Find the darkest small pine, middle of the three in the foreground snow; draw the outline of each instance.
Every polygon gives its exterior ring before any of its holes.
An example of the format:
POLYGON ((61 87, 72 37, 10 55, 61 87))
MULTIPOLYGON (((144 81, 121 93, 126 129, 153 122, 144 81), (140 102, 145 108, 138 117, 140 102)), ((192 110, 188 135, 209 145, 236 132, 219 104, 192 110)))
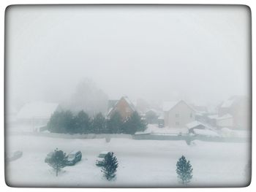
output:
POLYGON ((118 161, 116 156, 114 156, 114 153, 110 152, 105 155, 101 172, 103 172, 104 177, 106 177, 107 180, 112 180, 114 177, 116 177, 117 167, 118 161))

